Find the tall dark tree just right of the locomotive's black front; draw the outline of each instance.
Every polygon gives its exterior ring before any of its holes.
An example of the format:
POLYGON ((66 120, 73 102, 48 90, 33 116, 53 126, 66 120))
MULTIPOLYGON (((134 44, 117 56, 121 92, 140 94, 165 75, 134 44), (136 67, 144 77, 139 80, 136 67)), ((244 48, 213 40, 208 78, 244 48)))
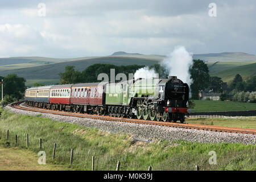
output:
POLYGON ((192 99, 199 99, 199 91, 209 86, 209 69, 202 60, 193 60, 193 66, 189 69, 193 84, 191 84, 192 99))

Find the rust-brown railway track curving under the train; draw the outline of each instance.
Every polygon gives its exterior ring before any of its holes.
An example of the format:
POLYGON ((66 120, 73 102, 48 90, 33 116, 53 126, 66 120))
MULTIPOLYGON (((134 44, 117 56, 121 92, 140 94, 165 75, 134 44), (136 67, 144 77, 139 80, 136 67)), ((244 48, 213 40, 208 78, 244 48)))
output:
POLYGON ((37 107, 31 106, 20 106, 23 101, 16 102, 11 104, 11 107, 16 109, 28 110, 28 111, 37 111, 40 113, 51 113, 66 115, 72 117, 81 117, 81 118, 91 118, 91 119, 101 119, 105 121, 118 121, 118 122, 132 122, 146 125, 158 125, 158 126, 168 126, 168 127, 177 127, 182 129, 197 129, 197 130, 206 130, 206 131, 217 131, 217 132, 226 132, 226 133, 242 133, 242 134, 256 134, 255 129, 244 129, 237 127, 224 127, 224 126, 213 126, 213 125, 198 125, 198 124, 188 124, 188 123, 172 123, 172 122, 162 122, 162 121, 148 121, 142 119, 130 119, 130 118, 116 118, 110 116, 96 115, 96 114, 80 114, 80 113, 69 113, 65 111, 56 111, 56 110, 47 110, 39 109, 37 107))

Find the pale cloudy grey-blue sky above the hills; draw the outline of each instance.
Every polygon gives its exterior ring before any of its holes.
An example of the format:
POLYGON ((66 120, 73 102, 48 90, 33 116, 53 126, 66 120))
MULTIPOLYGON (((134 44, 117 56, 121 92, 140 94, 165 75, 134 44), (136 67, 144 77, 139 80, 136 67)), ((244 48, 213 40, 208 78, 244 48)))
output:
POLYGON ((193 54, 256 55, 255 6, 254 0, 1 0, 0 57, 168 55, 176 46, 193 54))

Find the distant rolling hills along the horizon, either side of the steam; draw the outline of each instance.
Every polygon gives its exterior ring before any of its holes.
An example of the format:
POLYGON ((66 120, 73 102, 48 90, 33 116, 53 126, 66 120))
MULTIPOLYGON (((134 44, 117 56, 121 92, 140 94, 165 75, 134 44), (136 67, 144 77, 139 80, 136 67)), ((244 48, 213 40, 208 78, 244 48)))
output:
MULTIPOLYGON (((55 84, 59 80, 59 72, 64 72, 66 65, 74 65, 83 71, 95 63, 115 65, 139 64, 150 66, 159 63, 166 56, 142 55, 139 53, 117 52, 111 56, 91 56, 76 58, 51 57, 9 57, 0 58, 0 76, 15 73, 28 80, 27 86, 43 80, 45 84, 55 84)), ((243 79, 255 75, 256 56, 242 52, 222 52, 195 54, 193 59, 205 60, 209 67, 210 76, 221 77, 224 82, 230 81, 240 73, 243 79), (218 63, 216 63, 218 62, 218 63), (214 64, 215 63, 215 64, 214 64), (255 64, 253 64, 255 63, 255 64), (247 67, 246 67, 247 66, 247 67)))

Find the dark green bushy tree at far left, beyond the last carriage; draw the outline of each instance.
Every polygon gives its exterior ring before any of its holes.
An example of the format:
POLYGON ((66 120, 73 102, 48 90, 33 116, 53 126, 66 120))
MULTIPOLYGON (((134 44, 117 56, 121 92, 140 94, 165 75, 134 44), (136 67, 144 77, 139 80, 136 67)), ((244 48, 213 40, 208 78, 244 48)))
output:
POLYGON ((26 80, 23 77, 18 77, 16 74, 9 74, 3 78, 3 95, 10 95, 16 98, 21 98, 26 86, 26 80))

